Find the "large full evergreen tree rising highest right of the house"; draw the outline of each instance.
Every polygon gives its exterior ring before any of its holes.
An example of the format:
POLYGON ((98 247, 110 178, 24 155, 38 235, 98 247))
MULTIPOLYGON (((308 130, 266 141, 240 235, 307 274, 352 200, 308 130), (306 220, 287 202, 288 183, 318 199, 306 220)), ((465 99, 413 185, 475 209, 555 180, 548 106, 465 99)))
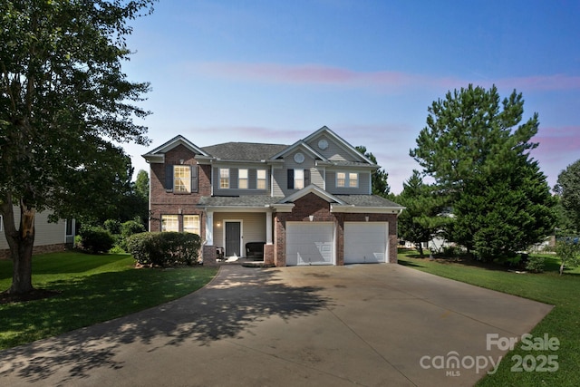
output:
POLYGON ((428 109, 410 154, 449 197, 451 240, 479 257, 507 256, 551 233, 555 199, 529 151, 537 113, 525 122, 521 93, 495 86, 448 92, 428 109))

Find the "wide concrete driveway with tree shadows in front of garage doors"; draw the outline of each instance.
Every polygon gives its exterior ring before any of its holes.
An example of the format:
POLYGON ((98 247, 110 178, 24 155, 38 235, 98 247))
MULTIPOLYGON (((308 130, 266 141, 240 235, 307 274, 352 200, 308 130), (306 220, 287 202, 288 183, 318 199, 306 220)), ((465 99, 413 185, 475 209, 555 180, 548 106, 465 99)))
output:
POLYGON ((472 385, 506 353, 488 334, 551 308, 399 265, 222 266, 172 303, 0 352, 0 384, 472 385))

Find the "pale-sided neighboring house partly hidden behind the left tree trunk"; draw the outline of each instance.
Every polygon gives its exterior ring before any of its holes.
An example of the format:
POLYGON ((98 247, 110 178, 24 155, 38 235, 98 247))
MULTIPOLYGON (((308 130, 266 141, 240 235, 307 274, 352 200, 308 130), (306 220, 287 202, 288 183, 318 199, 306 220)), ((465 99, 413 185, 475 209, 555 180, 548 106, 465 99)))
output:
MULTIPOLYGON (((33 254, 62 251, 74 243, 74 219, 59 220, 49 223, 50 211, 37 212, 34 216, 34 250, 33 254)), ((14 207, 16 227, 20 222, 20 208, 14 207)), ((10 257, 10 247, 5 237, 4 219, 0 215, 0 259, 10 257)))

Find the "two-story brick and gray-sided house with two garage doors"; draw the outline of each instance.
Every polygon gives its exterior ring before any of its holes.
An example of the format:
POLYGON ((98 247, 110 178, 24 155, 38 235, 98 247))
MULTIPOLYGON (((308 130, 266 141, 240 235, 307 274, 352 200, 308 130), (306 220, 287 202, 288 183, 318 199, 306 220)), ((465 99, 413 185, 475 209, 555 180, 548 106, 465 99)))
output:
POLYGON ((293 145, 177 136, 143 157, 150 231, 197 233, 204 262, 252 242, 267 265, 397 262, 402 207, 372 195, 379 167, 327 127, 293 145))

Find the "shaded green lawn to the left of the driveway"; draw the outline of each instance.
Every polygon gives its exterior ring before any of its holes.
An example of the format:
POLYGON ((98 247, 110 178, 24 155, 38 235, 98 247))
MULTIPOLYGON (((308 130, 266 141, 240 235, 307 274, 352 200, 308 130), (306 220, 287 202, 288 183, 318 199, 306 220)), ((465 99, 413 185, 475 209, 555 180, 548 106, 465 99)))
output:
MULTIPOLYGON (((216 267, 136 269, 129 255, 79 252, 33 257, 33 284, 49 298, 0 305, 0 349, 63 334, 188 295, 216 276, 216 267)), ((12 261, 0 260, 0 291, 12 283, 12 261)))

